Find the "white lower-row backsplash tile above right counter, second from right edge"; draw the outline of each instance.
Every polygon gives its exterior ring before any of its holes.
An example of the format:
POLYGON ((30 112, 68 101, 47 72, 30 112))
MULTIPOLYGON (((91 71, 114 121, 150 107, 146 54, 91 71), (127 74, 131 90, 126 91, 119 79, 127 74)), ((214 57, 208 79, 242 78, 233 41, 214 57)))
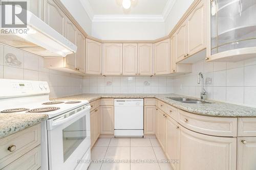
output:
POLYGON ((244 87, 227 87, 226 102, 234 104, 244 103, 244 87))

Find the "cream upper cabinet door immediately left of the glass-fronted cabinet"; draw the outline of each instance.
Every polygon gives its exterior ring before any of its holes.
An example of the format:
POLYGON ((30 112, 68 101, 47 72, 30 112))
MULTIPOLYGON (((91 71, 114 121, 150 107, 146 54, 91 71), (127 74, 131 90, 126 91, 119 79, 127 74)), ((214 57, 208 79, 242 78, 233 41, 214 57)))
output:
POLYGON ((201 1, 187 18, 188 55, 206 48, 205 1, 201 1))

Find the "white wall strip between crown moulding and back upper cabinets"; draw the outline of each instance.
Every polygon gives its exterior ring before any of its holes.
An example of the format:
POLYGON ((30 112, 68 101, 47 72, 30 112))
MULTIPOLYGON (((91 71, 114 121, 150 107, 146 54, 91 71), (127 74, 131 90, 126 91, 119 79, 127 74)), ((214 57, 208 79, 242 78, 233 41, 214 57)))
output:
POLYGON ((165 36, 164 22, 93 22, 92 36, 103 40, 155 40, 165 36))

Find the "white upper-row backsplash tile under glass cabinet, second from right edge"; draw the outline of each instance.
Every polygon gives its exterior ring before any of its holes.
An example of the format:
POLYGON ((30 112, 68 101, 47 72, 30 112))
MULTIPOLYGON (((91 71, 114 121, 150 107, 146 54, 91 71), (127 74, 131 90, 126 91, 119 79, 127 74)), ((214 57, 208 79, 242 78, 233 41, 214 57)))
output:
POLYGON ((244 85, 244 68, 234 68, 227 70, 227 86, 244 85))

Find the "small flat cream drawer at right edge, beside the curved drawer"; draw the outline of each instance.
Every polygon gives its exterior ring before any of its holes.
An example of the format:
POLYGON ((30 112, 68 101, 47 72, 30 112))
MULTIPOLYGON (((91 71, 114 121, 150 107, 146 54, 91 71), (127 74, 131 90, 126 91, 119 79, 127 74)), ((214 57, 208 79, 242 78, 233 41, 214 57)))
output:
POLYGON ((238 118, 238 136, 256 136, 256 117, 238 118))

